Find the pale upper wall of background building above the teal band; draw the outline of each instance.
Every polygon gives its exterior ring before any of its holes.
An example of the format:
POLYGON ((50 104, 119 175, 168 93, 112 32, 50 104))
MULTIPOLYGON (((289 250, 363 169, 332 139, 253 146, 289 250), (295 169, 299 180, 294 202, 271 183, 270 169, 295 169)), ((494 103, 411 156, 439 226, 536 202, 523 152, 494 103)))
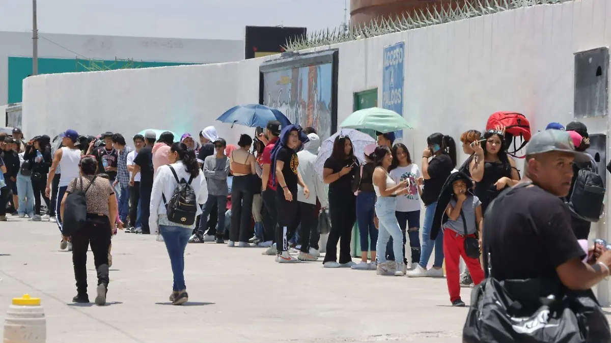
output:
MULTIPOLYGON (((74 59, 76 54, 79 54, 79 59, 114 60, 116 57, 146 62, 183 63, 219 63, 244 59, 243 40, 117 37, 45 32, 40 32, 39 35, 38 57, 74 59)), ((8 57, 32 57, 32 34, 0 32, 0 47, 0 104, 6 104, 8 57)))

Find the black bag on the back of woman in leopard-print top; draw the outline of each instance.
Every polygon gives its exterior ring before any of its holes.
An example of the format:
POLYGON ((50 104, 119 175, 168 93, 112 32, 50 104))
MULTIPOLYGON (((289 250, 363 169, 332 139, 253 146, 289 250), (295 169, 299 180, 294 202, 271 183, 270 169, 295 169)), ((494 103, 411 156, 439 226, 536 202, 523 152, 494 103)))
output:
MULTIPOLYGON (((79 190, 75 184, 75 190, 66 196, 64 204, 64 215, 62 216, 62 234, 70 237, 85 226, 87 221, 87 198, 85 193, 89 187, 95 182, 97 176, 89 183, 86 189, 82 188, 82 176, 79 178, 81 189, 79 190)), ((75 182, 76 183, 76 182, 75 182)), ((57 201, 61 201, 57 199, 57 201)))

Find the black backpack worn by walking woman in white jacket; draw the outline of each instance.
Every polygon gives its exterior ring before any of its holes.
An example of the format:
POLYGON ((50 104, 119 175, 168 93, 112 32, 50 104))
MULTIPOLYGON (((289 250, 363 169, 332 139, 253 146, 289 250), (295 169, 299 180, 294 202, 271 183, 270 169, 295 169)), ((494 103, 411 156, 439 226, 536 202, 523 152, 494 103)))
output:
POLYGON ((168 165, 174 179, 176 179, 176 187, 170 201, 166 201, 166 196, 162 194, 163 203, 166 205, 167 219, 172 223, 178 223, 181 225, 193 225, 197 217, 197 196, 193 187, 191 187, 191 181, 193 176, 189 178, 189 182, 185 179, 178 180, 178 175, 171 165, 168 165))

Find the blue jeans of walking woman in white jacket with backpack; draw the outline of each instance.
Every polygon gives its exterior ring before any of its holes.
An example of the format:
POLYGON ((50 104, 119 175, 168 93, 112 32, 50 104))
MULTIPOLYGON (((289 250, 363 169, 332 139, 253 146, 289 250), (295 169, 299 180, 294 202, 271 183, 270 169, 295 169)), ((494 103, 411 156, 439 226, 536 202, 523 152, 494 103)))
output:
POLYGON ((180 226, 159 225, 159 233, 166 244, 167 255, 170 256, 174 284, 172 291, 183 291, 185 286, 185 248, 191 237, 192 229, 180 226))

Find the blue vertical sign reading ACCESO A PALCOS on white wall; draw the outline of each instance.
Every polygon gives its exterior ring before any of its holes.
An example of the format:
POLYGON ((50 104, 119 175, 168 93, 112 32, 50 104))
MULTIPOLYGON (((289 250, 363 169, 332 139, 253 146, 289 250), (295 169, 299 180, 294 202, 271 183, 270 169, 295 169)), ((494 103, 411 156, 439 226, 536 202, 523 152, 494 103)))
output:
MULTIPOLYGON (((384 78, 382 78, 382 108, 403 115, 405 43, 384 48, 384 78)), ((397 139, 403 138, 403 130, 395 132, 397 139)))

